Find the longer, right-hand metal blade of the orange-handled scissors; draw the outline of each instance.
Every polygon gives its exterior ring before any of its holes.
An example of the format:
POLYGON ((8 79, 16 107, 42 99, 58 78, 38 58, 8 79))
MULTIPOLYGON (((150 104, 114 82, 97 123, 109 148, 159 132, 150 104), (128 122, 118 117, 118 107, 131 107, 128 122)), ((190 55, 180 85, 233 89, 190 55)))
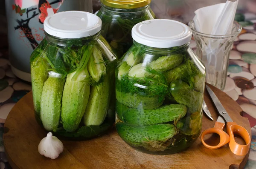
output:
POLYGON ((216 107, 217 110, 218 110, 219 115, 220 115, 221 117, 223 117, 226 122, 231 122, 231 121, 233 121, 233 120, 230 118, 230 116, 227 114, 226 109, 222 106, 220 100, 218 100, 218 97, 214 94, 214 92, 212 91, 212 89, 210 89, 209 86, 207 86, 207 85, 205 85, 205 86, 206 86, 206 89, 207 89, 207 91, 208 91, 210 97, 212 98, 212 101, 213 101, 215 107, 216 107))

